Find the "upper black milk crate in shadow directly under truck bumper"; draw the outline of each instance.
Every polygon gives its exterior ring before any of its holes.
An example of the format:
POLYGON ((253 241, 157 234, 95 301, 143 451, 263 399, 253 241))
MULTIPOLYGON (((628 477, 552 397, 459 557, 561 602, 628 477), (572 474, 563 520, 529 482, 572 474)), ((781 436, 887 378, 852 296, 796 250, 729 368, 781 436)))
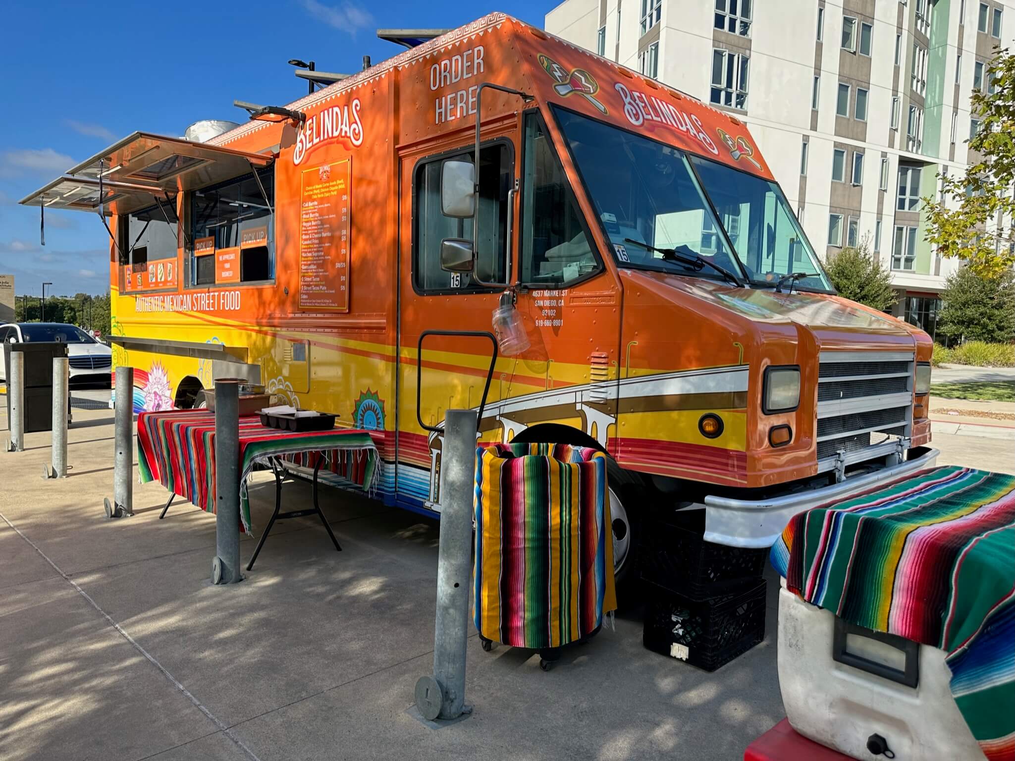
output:
POLYGON ((704 510, 650 514, 642 532, 641 577, 703 599, 761 578, 768 550, 705 542, 704 510))

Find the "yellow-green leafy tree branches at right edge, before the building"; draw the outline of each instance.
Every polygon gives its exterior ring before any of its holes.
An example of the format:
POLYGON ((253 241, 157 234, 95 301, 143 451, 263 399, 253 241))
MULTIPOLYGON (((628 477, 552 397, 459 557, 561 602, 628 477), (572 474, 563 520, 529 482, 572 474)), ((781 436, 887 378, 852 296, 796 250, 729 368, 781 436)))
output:
POLYGON ((941 198, 923 199, 927 239, 941 256, 962 259, 987 277, 1015 263, 1015 55, 994 50, 986 73, 990 86, 974 89, 969 98, 979 121, 968 140, 976 160, 964 175, 939 175, 941 198))

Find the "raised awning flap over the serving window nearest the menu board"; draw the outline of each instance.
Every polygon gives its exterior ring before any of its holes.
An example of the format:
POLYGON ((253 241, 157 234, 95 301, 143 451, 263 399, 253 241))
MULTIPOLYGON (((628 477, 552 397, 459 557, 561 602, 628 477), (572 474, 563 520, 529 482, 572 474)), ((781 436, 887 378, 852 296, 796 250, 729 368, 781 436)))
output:
POLYGON ((96 153, 68 175, 103 182, 150 185, 179 192, 206 188, 260 168, 273 156, 147 132, 135 132, 96 153))

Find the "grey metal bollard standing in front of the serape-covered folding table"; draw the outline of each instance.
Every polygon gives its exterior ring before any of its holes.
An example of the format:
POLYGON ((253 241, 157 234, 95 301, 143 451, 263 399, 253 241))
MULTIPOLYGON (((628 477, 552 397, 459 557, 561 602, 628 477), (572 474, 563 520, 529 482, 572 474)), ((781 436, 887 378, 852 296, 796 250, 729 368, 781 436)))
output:
POLYGON ((242 581, 240 570, 240 384, 215 382, 215 557, 211 582, 242 581))

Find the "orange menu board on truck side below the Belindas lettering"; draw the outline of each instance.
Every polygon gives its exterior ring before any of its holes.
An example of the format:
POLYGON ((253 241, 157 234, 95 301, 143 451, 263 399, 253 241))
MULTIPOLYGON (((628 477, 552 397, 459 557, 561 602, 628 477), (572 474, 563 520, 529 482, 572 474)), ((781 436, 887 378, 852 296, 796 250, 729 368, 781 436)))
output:
POLYGON ((299 308, 349 310, 352 162, 303 169, 299 183, 299 308))

